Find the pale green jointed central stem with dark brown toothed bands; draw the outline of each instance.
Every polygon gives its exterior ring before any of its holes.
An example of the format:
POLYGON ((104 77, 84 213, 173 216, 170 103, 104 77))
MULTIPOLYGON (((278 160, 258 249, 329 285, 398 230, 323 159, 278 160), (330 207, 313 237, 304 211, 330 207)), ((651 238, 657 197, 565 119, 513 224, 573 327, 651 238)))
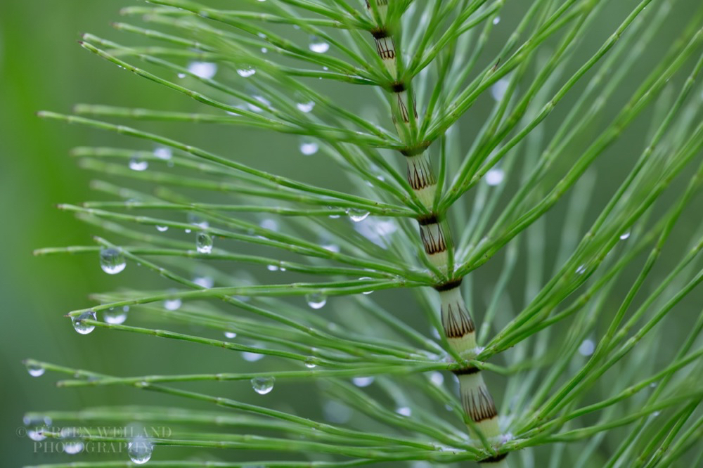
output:
MULTIPOLYGON (((388 0, 366 1, 369 15, 379 24, 371 30, 376 43, 376 51, 383 65, 394 81, 389 92, 392 100, 393 122, 401 138, 412 134, 412 127, 418 120, 415 99, 408 93, 408 83, 398 75, 396 48, 391 33, 385 26, 388 0), (380 21, 380 22, 379 22, 380 21)), ((418 216, 420 239, 430 262, 451 277, 449 271, 449 242, 445 232, 446 223, 435 212, 437 178, 432 171, 427 145, 408 147, 401 150, 408 164, 408 183, 415 195, 427 209, 427 214, 418 216)), ((476 327, 466 307, 460 290, 461 279, 450 280, 435 286, 441 303, 441 323, 451 349, 466 358, 479 353, 476 342, 476 327)), ((482 460, 482 466, 508 468, 507 454, 496 454, 494 446, 501 443, 501 430, 498 426, 498 411, 488 391, 479 368, 470 367, 455 371, 459 379, 459 392, 464 411, 470 417, 469 432, 473 439, 480 441, 493 455, 482 460)))

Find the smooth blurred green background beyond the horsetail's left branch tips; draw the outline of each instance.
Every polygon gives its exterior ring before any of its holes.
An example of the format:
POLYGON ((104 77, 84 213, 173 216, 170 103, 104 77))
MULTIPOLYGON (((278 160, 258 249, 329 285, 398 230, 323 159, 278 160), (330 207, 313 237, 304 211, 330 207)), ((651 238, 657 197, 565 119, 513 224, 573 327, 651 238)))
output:
MULTIPOLYGON (((32 256, 32 249, 38 247, 91 243, 90 236, 95 230, 55 208, 58 202, 79 203, 95 197, 89 190, 91 174, 80 170, 68 151, 77 145, 110 145, 124 141, 82 127, 43 122, 34 112, 42 109, 69 112, 75 103, 127 103, 169 109, 193 106, 183 96, 117 70, 76 43, 84 31, 115 37, 118 33, 112 31, 110 22, 120 19, 120 7, 136 3, 128 0, 0 1, 0 213, 4 220, 4 249, 0 256, 0 427, 3 434, 0 464, 4 467, 75 460, 63 453, 34 453, 31 441, 16 434, 22 425, 22 414, 27 410, 77 409, 108 403, 171 403, 164 397, 133 389, 56 389, 54 376, 34 379, 27 375, 21 363, 23 358, 50 360, 88 370, 105 369, 117 375, 141 375, 153 373, 155 369, 165 373, 183 369, 217 372, 227 362, 225 359, 242 362, 236 356, 223 357, 218 350, 151 337, 101 330, 79 336, 63 317, 64 313, 91 304, 87 299, 90 292, 134 285, 141 278, 138 275, 143 278, 148 275, 136 268, 130 268, 129 275, 105 275, 94 256, 32 256)), ((509 25, 515 20, 511 18, 510 8, 519 3, 508 1, 501 24, 509 25)), ((626 11, 633 2, 622 3, 626 11)), ((697 0, 691 0, 688 11, 681 8, 667 22, 671 34, 696 3, 697 0)), ((598 25, 602 31, 593 34, 586 45, 592 48, 598 44, 596 41, 610 34, 612 26, 598 25)), ((498 38, 507 37, 508 27, 496 34, 498 38)), ((662 50, 667 46, 668 34, 658 43, 662 50)), ((662 50, 652 51, 652 60, 656 60, 662 50)), ((643 70, 650 68, 646 63, 639 65, 643 70)), ((352 98, 354 95, 350 93, 349 99, 352 98)), ((554 121, 558 119, 555 117, 554 121)), ((240 153, 257 161, 259 167, 280 164, 276 148, 290 148, 295 144, 295 140, 287 136, 269 136, 266 145, 257 145, 256 138, 260 135, 246 135, 242 131, 235 136, 231 130, 178 128, 182 141, 209 139, 216 148, 231 148, 235 142, 240 153)), ((636 124, 633 131, 626 133, 626 138, 640 138, 646 128, 646 121, 636 124)), ((617 144, 617 148, 627 146, 628 141, 617 144)), ((639 147, 639 143, 636 146, 639 147)), ((299 160, 290 160, 283 166, 287 175, 294 177, 320 175, 311 174, 309 167, 299 164, 299 160)), ((623 167, 627 167, 626 164, 623 167)), ((326 168, 323 165, 320 171, 326 168)), ((612 183, 619 177, 621 173, 616 167, 610 174, 612 183)), ((602 187, 609 186, 607 178, 599 179, 599 183, 602 187)), ((607 191, 602 190, 602 193, 607 191)), ((494 266, 487 266, 486 271, 491 268, 494 266)), ((220 385, 233 392, 241 390, 235 384, 220 385)), ((251 394, 247 389, 242 398, 253 399, 251 394)))

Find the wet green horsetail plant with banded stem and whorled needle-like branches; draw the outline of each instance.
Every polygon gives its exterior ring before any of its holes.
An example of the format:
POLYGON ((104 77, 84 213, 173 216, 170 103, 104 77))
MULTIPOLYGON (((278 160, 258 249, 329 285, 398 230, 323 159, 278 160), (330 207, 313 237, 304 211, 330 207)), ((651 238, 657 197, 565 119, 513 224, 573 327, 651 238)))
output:
POLYGON ((150 0, 122 13, 115 28, 144 45, 81 46, 190 108, 39 112, 141 146, 73 151, 131 183, 94 181, 110 200, 60 205, 101 230, 95 245, 36 254, 171 283, 95 294, 67 314, 81 334, 270 358, 264 372, 135 377, 27 360, 32 375, 67 375, 60 386, 170 397, 27 413, 35 440, 124 443, 131 458, 48 466, 127 467, 155 446, 150 464, 169 467, 699 466, 703 6, 150 0), (226 148, 189 142, 214 124, 226 148), (306 164, 309 180, 249 164, 239 127, 264 146, 301 138, 277 164, 306 164), (245 380, 268 394, 296 379, 320 414, 188 388, 245 380), (107 423, 173 431, 89 429, 107 423))

